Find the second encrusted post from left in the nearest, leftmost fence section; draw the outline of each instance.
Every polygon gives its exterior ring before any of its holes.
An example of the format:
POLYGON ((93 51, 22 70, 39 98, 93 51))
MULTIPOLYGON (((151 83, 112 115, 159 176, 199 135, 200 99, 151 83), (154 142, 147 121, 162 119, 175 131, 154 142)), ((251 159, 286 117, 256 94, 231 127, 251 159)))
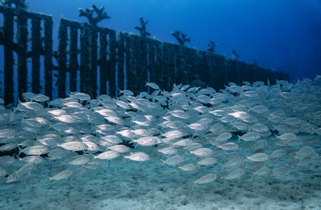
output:
POLYGON ((21 99, 22 92, 27 92, 27 43, 28 43, 28 23, 27 17, 21 14, 17 17, 17 79, 18 98, 21 99))

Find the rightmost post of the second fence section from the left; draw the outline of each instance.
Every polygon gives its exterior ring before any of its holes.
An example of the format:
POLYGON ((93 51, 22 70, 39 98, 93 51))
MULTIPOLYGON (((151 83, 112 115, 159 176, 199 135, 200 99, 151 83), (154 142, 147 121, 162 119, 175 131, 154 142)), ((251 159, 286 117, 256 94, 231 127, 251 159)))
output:
POLYGON ((116 94, 116 48, 117 48, 117 39, 116 31, 109 30, 109 39, 108 39, 108 79, 109 79, 109 96, 113 97, 116 94))

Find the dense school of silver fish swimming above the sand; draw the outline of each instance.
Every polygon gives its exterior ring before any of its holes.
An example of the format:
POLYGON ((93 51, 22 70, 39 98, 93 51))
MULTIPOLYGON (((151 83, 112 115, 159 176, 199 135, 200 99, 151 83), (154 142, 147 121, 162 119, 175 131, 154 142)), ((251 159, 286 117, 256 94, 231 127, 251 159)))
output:
POLYGON ((48 182, 83 175, 106 161, 158 161, 185 171, 215 164, 220 174, 200 174, 193 181, 206 184, 218 177, 283 175, 320 165, 314 145, 321 135, 321 76, 243 84, 229 83, 218 92, 174 84, 167 92, 146 82, 157 90, 135 97, 119 90, 117 99, 71 92, 48 101, 23 93, 26 102, 0 107, 0 156, 19 150, 0 157, 0 176, 6 183, 24 179, 30 186, 36 181, 33 170, 52 161, 60 166, 48 182), (266 154, 268 147, 273 152, 266 154), (275 168, 276 162, 284 164, 275 168))

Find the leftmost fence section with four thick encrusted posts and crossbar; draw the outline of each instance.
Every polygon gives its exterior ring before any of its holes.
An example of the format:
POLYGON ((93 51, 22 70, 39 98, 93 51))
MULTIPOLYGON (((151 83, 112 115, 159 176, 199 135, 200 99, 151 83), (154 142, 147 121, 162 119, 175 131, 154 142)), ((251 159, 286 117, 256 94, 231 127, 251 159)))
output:
MULTIPOLYGON (((15 64, 13 52, 17 53, 18 97, 27 92, 27 58, 32 59, 32 92, 40 92, 40 56, 44 57, 45 69, 45 95, 52 96, 52 15, 28 12, 12 7, 0 6, 3 14, 3 35, 0 39, 4 46, 4 101, 13 102, 13 65, 15 64), (14 36, 14 17, 17 22, 16 42, 14 36), (31 19, 31 51, 27 50, 28 25, 31 19), (41 21, 44 22, 44 37, 41 37, 41 21), (43 42, 43 46, 42 46, 43 42)), ((0 35, 1 37, 1 35, 0 35)))

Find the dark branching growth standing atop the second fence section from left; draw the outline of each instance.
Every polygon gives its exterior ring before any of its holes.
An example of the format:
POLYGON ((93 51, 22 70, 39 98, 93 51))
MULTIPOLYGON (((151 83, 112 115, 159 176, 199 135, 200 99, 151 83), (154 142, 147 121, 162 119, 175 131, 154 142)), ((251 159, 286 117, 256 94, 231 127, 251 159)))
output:
POLYGON ((79 8, 78 9, 78 11, 79 11, 78 15, 87 17, 90 24, 97 25, 98 22, 100 22, 100 21, 102 21, 104 19, 109 19, 110 18, 110 16, 108 16, 107 13, 104 12, 104 9, 105 9, 105 7, 103 7, 103 6, 98 8, 97 6, 95 6, 95 4, 92 4, 91 8, 87 8, 85 10, 82 9, 82 8, 79 8), (92 16, 94 11, 97 13, 96 17, 92 16))

